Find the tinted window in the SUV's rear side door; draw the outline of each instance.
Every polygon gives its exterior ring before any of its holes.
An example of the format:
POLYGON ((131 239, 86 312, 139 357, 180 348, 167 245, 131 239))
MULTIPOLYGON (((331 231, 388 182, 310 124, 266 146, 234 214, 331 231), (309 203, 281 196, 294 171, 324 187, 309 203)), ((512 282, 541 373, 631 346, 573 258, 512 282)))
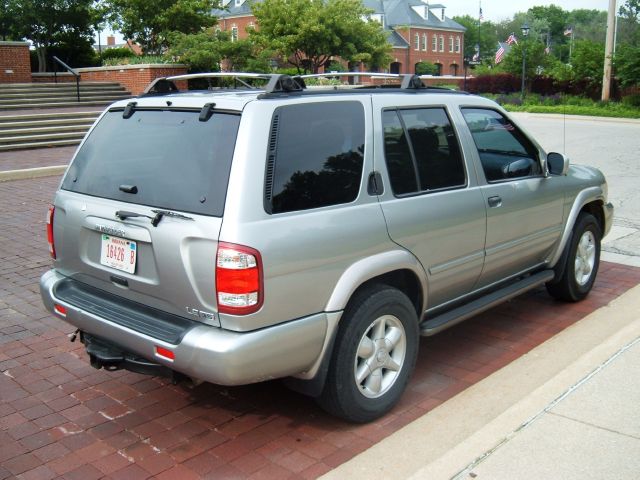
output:
POLYGON ((386 110, 382 121, 395 195, 466 184, 458 140, 444 108, 386 110))

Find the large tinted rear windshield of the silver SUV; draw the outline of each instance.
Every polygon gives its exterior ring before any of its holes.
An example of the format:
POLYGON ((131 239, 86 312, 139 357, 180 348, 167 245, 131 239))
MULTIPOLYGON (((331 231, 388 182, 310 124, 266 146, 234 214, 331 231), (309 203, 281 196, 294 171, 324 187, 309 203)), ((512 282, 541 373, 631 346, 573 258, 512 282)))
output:
POLYGON ((240 115, 215 112, 201 122, 199 111, 136 110, 127 119, 122 113, 100 120, 62 188, 222 216, 240 115))

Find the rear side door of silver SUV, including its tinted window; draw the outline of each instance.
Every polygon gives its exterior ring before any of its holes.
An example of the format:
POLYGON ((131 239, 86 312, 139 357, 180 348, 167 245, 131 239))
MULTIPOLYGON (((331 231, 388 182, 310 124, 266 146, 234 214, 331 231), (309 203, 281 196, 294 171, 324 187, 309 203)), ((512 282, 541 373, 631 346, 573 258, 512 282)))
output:
POLYGON ((381 102, 377 111, 382 135, 376 139, 376 161, 384 158, 384 165, 377 163, 376 169, 386 169, 391 183, 385 185, 382 210, 391 239, 410 250, 427 272, 432 308, 468 293, 480 275, 486 227, 482 193, 445 106, 381 102))

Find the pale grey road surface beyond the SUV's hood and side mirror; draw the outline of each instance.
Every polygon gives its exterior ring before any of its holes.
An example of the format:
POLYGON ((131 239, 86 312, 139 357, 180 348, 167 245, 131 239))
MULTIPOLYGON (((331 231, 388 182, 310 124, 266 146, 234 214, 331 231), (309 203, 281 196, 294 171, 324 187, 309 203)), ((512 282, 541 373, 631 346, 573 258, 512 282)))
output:
POLYGON ((512 115, 547 152, 564 153, 572 163, 602 170, 615 206, 603 257, 640 266, 640 120, 512 115))

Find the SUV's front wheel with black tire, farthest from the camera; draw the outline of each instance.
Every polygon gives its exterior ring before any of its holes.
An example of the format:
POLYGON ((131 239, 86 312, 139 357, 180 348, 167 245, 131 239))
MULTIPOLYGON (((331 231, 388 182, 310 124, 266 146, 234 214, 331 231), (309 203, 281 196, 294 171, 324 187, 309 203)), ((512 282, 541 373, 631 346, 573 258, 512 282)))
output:
POLYGON ((547 283, 549 294, 566 302, 585 298, 596 280, 600 264, 600 240, 602 233, 595 217, 581 213, 573 227, 568 254, 559 278, 547 283))

